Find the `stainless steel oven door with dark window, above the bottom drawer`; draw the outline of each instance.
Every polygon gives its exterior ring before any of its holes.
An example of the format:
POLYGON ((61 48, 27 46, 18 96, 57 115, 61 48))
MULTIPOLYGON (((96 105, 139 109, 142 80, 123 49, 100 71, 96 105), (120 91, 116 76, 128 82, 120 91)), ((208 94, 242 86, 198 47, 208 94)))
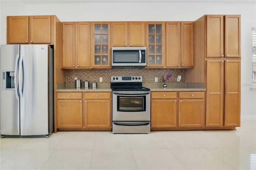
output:
POLYGON ((113 91, 113 121, 150 121, 150 91, 113 91))

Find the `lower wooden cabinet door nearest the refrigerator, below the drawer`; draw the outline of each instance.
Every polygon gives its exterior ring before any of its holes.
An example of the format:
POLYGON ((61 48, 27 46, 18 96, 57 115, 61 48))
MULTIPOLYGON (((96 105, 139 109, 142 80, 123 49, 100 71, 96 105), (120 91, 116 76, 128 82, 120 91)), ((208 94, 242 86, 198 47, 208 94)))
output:
POLYGON ((82 100, 57 100, 57 127, 79 128, 83 126, 82 100))

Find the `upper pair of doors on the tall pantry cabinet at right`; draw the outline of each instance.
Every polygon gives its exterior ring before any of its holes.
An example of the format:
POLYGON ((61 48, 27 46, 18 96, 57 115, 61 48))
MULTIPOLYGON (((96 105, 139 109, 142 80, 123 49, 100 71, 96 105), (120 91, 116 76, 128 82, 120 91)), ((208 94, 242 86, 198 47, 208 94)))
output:
POLYGON ((240 15, 206 16, 206 57, 240 57, 240 15))

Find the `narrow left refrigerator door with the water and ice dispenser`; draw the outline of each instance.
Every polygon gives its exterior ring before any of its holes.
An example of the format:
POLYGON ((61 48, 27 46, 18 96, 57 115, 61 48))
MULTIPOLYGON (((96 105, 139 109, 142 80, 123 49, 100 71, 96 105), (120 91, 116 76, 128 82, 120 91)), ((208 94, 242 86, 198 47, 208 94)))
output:
POLYGON ((18 59, 20 45, 1 45, 0 129, 1 135, 20 135, 18 59), (10 75, 12 73, 12 75, 10 75), (12 81, 12 82, 11 82, 12 81), (14 84, 14 86, 13 86, 14 84))

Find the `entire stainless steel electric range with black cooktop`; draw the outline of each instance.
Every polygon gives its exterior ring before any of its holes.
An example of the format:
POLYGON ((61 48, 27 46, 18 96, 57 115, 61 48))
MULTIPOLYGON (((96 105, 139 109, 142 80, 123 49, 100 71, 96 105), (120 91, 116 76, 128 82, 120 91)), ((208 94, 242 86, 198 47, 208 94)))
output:
POLYGON ((112 132, 150 133, 150 89, 142 76, 111 76, 112 132))

